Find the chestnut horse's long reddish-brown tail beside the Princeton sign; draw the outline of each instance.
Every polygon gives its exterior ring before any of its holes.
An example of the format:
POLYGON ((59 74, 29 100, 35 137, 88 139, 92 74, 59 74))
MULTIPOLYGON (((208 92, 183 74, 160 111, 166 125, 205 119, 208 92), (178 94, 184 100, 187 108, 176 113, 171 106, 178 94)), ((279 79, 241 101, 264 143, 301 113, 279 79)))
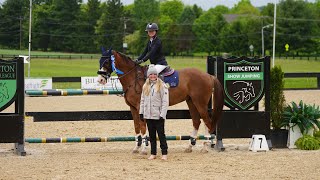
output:
POLYGON ((222 116, 222 110, 224 106, 224 90, 220 83, 220 81, 215 77, 212 76, 213 81, 213 98, 212 98, 212 105, 213 105, 213 111, 212 111, 212 127, 213 129, 210 132, 211 134, 214 134, 216 132, 216 128, 219 125, 219 122, 221 120, 222 116))

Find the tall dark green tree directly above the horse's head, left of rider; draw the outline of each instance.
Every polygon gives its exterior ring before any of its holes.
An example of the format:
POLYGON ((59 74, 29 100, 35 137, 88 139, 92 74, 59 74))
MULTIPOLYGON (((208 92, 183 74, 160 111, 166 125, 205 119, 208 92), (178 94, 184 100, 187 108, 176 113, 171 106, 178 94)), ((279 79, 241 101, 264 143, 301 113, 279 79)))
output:
POLYGON ((96 26, 97 46, 113 47, 122 50, 124 40, 123 5, 120 0, 108 0, 96 26))

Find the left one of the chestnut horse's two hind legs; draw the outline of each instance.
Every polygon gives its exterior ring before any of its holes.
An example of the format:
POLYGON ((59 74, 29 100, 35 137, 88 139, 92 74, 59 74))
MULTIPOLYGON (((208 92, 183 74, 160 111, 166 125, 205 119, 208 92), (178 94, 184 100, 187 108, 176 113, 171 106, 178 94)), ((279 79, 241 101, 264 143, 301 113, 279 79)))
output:
POLYGON ((191 98, 187 99, 187 104, 189 107, 189 111, 190 111, 190 116, 192 118, 192 123, 193 123, 193 131, 190 135, 190 144, 188 145, 188 147, 185 149, 185 152, 192 152, 192 147, 196 144, 196 139, 197 139, 197 135, 198 135, 198 130, 199 130, 199 126, 200 126, 200 115, 198 113, 198 110, 196 108, 196 106, 193 104, 191 98))

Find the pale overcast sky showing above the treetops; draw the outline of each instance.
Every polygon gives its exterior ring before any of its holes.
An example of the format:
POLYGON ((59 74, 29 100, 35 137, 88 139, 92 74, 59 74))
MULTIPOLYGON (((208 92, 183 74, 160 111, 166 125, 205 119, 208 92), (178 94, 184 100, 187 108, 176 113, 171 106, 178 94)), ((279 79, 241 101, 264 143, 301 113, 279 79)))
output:
MULTIPOLYGON (((0 0, 0 3, 5 0, 0 0)), ((101 0, 106 1, 106 0, 101 0)), ((121 0, 124 5, 132 4, 134 0, 121 0)), ((209 8, 215 7, 217 5, 225 5, 229 8, 232 8, 235 4, 237 4, 240 0, 182 0, 182 2, 186 5, 197 4, 204 10, 208 10, 209 8)), ((280 0, 251 0, 251 4, 255 7, 260 7, 267 5, 268 3, 279 2, 280 0)), ((309 2, 315 2, 315 0, 308 0, 309 2)), ((83 2, 87 2, 87 0, 83 0, 83 2)))

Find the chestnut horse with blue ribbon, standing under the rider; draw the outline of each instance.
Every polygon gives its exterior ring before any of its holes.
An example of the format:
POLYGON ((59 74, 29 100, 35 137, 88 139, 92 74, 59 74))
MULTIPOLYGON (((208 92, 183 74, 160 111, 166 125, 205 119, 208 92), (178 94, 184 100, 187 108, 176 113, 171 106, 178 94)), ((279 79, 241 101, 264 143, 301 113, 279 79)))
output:
MULTIPOLYGON (((140 96, 145 82, 144 72, 146 68, 136 65, 129 57, 117 51, 111 49, 106 51, 104 48, 102 51, 98 82, 105 84, 111 73, 116 72, 123 87, 125 102, 130 106, 134 121, 136 146, 133 152, 139 152, 141 145, 143 145, 141 154, 147 154, 146 122, 141 121, 139 117, 140 96)), ((201 72, 195 68, 185 68, 178 72, 179 85, 169 88, 169 105, 175 105, 182 101, 186 101, 188 104, 194 130, 190 135, 190 145, 188 145, 185 151, 191 152, 192 146, 195 145, 201 123, 200 119, 203 119, 206 125, 206 142, 202 150, 208 151, 208 144, 212 140, 212 137, 214 137, 217 125, 221 119, 224 104, 223 88, 215 76, 201 72), (212 113, 209 113, 208 103, 212 95, 213 111, 210 110, 212 113)))

